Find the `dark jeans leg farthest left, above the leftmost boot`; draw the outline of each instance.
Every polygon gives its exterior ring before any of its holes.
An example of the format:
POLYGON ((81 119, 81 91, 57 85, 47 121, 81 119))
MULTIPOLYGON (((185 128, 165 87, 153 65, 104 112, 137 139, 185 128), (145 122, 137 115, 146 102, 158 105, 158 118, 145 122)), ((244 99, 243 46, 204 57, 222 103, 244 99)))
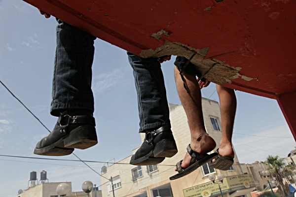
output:
POLYGON ((57 19, 57 48, 54 64, 50 113, 59 116, 65 109, 94 111, 91 90, 96 37, 57 19))

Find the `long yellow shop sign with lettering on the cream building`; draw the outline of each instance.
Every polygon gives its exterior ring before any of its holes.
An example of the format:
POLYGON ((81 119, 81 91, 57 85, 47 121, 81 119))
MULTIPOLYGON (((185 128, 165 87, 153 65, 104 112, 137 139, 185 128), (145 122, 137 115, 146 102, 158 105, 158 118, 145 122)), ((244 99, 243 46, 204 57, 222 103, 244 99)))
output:
POLYGON ((255 182, 251 174, 227 176, 223 179, 223 183, 218 180, 214 184, 212 181, 201 185, 197 185, 191 188, 183 190, 184 197, 212 197, 222 193, 232 192, 236 190, 242 190, 250 187, 255 187, 255 182))

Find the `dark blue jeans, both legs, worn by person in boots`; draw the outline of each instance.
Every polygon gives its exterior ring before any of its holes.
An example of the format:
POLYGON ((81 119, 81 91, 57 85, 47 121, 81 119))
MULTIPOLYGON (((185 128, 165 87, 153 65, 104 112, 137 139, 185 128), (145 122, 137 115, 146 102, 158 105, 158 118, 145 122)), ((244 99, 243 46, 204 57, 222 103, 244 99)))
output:
MULTIPOLYGON (((94 111, 91 90, 96 37, 57 19, 57 48, 50 113, 68 109, 94 111)), ((140 58, 128 52, 138 93, 140 132, 170 126, 163 75, 156 58, 140 58)))

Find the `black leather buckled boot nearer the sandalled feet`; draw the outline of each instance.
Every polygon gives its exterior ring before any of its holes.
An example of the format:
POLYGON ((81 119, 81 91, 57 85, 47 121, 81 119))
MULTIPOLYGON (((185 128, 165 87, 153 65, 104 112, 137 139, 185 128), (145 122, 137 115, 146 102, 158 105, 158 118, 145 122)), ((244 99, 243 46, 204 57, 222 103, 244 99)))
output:
POLYGON ((153 165, 161 163, 166 157, 173 157, 178 152, 177 145, 169 126, 149 130, 143 144, 132 155, 130 164, 153 165))

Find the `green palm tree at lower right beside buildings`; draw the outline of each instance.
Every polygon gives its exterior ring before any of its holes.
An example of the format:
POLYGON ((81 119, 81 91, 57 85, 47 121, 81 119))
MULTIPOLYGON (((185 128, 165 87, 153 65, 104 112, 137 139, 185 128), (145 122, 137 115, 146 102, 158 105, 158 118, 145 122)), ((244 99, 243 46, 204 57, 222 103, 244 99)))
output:
POLYGON ((279 189, 281 191, 281 194, 289 196, 285 190, 285 186, 283 183, 282 169, 285 166, 285 163, 283 161, 284 159, 279 159, 279 156, 273 157, 271 155, 268 155, 264 164, 267 165, 267 169, 270 172, 271 176, 274 177, 277 184, 280 185, 279 189))

